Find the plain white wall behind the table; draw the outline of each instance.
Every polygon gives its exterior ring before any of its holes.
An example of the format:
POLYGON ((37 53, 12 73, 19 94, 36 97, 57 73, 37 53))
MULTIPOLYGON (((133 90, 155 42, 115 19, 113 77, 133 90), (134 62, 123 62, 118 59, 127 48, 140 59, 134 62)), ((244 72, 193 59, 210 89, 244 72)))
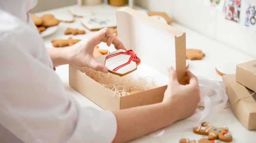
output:
POLYGON ((256 31, 224 19, 224 10, 210 8, 204 5, 204 0, 134 0, 134 3, 150 11, 166 12, 174 22, 256 58, 256 31))

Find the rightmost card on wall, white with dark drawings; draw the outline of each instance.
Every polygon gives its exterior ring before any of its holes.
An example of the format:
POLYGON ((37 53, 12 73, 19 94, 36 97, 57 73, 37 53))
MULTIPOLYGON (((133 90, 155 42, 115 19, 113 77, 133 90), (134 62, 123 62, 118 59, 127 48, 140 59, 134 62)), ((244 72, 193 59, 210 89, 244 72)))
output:
POLYGON ((256 0, 243 0, 241 7, 241 25, 256 31, 256 0))

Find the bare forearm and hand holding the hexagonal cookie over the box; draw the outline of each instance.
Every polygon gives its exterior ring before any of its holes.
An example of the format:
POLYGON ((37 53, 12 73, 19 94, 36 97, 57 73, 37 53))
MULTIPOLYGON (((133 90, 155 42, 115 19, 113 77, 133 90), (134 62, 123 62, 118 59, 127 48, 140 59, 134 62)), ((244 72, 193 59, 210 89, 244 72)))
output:
POLYGON ((112 43, 116 49, 126 50, 122 42, 108 28, 103 28, 69 48, 47 48, 47 51, 51 56, 54 67, 72 64, 77 67, 89 67, 96 71, 107 73, 107 67, 97 63, 93 58, 94 47, 101 42, 107 43, 108 46, 112 43))

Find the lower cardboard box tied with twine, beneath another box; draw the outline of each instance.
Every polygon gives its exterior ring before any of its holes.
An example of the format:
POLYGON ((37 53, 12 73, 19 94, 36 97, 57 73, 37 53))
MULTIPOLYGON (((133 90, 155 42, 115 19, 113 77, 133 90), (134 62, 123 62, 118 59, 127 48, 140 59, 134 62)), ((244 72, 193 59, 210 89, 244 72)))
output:
POLYGON ((235 74, 225 74, 222 79, 226 86, 228 101, 231 105, 244 98, 231 106, 237 119, 246 129, 256 130, 256 94, 250 96, 254 91, 238 83, 235 74))

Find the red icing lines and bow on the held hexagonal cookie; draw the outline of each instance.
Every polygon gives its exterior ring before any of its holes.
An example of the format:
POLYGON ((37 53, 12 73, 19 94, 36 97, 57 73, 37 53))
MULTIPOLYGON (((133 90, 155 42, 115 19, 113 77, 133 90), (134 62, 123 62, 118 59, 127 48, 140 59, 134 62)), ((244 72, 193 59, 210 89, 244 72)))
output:
POLYGON ((112 54, 112 55, 109 55, 109 56, 106 56, 106 59, 110 58, 110 57, 113 57, 113 56, 117 56, 117 55, 120 55, 120 54, 124 54, 124 55, 130 55, 130 58, 128 60, 128 62, 116 67, 115 69, 113 69, 112 71, 117 71, 118 69, 120 69, 121 67, 123 66, 126 66, 128 64, 131 63, 131 61, 134 61, 136 63, 139 63, 140 62, 140 58, 137 57, 137 55, 134 53, 133 50, 127 50, 125 52, 118 52, 118 53, 115 53, 115 54, 112 54))

